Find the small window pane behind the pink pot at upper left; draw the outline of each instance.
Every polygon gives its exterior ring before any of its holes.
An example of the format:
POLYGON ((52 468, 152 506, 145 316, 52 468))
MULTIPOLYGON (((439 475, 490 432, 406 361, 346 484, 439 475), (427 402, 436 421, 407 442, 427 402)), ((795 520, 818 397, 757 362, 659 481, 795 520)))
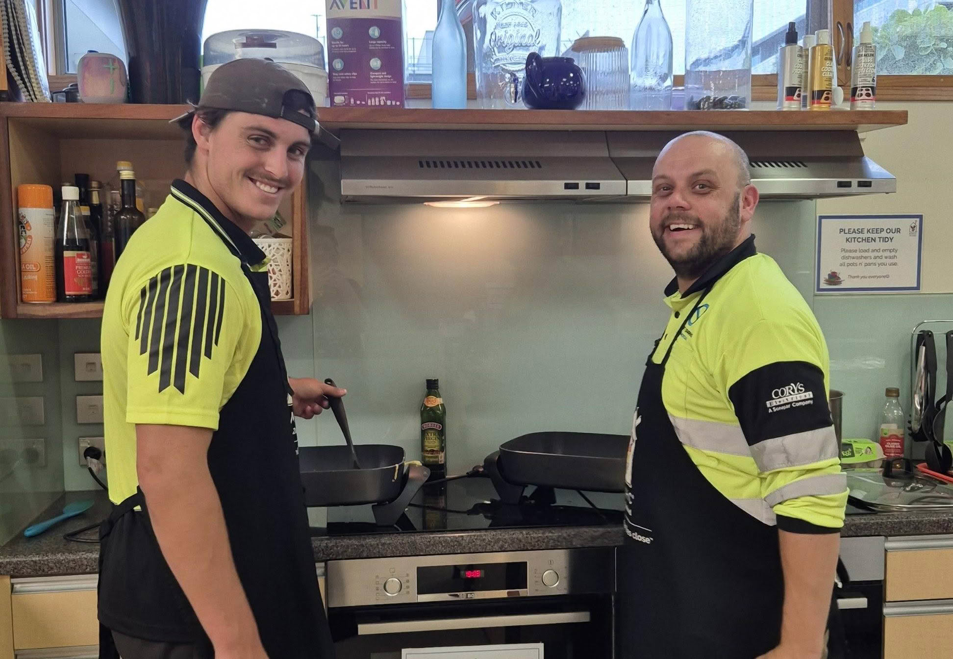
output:
POLYGON ((57 70, 75 73, 87 51, 111 52, 128 64, 116 0, 61 0, 64 48, 57 70))

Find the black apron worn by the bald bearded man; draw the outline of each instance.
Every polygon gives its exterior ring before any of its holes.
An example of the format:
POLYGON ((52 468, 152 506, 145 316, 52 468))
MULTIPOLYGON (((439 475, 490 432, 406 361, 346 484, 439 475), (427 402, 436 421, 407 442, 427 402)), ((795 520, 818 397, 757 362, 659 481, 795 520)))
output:
POLYGON ((665 364, 710 290, 685 315, 664 359, 649 355, 639 389, 618 554, 620 659, 754 659, 781 639, 777 527, 708 482, 662 402, 665 364))

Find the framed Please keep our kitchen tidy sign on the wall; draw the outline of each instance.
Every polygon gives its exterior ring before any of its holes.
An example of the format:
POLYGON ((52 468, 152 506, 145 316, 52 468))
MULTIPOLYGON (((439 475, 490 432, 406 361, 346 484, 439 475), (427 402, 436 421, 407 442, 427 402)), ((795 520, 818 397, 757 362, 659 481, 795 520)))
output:
POLYGON ((818 216, 817 293, 920 290, 923 216, 818 216))

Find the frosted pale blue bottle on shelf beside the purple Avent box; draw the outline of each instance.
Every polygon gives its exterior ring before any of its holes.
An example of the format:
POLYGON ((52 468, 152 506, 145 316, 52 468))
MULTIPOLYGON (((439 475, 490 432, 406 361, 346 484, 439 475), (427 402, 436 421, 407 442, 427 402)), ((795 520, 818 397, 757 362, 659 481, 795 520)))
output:
POLYGON ((467 107, 467 42, 456 0, 441 0, 434 32, 432 95, 435 108, 467 107))

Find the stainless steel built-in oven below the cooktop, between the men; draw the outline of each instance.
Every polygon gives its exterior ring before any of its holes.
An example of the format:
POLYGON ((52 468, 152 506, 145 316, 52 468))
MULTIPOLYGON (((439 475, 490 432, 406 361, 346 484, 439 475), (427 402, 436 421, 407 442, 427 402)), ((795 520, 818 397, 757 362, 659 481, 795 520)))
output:
POLYGON ((338 659, 527 643, 612 657, 614 584, 611 547, 332 561, 328 619, 338 659))

